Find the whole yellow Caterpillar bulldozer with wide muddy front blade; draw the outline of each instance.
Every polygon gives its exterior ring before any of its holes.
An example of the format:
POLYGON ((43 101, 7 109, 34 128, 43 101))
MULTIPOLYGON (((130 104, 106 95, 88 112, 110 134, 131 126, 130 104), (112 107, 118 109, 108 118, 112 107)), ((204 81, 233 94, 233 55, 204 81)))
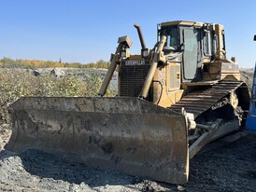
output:
POLYGON ((86 165, 185 184, 206 144, 240 129, 249 89, 226 58, 221 24, 167 21, 157 43, 131 54, 118 39, 98 97, 23 97, 9 106, 8 150, 44 150, 86 165), (104 97, 118 71, 118 95, 104 97))

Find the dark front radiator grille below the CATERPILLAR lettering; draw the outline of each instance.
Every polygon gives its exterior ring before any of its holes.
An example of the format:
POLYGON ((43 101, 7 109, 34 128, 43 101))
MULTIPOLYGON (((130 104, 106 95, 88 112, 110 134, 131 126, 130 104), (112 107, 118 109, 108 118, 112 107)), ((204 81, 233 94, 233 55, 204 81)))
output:
POLYGON ((122 65, 120 96, 138 97, 149 72, 149 65, 122 65))

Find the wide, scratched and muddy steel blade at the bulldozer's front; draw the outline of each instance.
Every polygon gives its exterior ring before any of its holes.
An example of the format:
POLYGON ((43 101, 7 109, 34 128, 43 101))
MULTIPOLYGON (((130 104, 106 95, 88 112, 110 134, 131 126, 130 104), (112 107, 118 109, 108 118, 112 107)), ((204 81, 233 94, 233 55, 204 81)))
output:
POLYGON ((92 167, 184 184, 186 118, 137 98, 21 98, 8 150, 40 149, 92 167))

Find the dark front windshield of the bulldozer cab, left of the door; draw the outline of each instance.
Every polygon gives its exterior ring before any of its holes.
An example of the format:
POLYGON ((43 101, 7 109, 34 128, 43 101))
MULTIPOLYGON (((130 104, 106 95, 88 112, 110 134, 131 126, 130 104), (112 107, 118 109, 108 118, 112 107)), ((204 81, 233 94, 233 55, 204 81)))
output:
POLYGON ((178 28, 177 26, 164 26, 161 28, 160 35, 167 37, 164 47, 178 50, 178 28))

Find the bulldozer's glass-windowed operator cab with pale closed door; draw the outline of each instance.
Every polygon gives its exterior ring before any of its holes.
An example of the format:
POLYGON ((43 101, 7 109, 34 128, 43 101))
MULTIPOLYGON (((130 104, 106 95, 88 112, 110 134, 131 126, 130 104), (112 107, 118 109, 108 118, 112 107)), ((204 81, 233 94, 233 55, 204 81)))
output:
MULTIPOLYGON (((158 41, 167 37, 164 45, 166 61, 181 62, 181 82, 203 79, 204 62, 212 62, 217 55, 218 37, 215 24, 194 21, 170 21, 158 24, 158 41)), ((221 31, 221 51, 225 52, 224 31, 221 31)))

